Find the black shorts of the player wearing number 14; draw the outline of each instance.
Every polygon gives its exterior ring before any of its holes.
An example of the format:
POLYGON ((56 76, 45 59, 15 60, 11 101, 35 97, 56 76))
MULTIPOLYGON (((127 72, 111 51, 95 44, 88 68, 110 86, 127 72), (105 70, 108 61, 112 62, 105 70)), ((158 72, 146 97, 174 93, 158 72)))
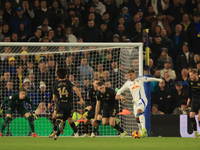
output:
POLYGON ((57 107, 56 119, 62 119, 66 121, 73 116, 73 107, 70 103, 61 103, 57 107))

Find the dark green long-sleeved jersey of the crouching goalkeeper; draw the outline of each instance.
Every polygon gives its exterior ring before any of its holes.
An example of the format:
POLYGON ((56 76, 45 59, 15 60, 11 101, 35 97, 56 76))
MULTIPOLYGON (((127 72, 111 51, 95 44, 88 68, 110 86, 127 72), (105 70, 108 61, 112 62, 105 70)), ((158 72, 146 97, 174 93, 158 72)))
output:
POLYGON ((31 109, 35 110, 35 106, 32 103, 31 99, 26 95, 26 97, 24 99, 19 99, 19 94, 13 94, 9 97, 6 97, 5 100, 2 103, 2 106, 7 102, 9 102, 9 106, 24 106, 24 103, 29 103, 31 104, 31 109))

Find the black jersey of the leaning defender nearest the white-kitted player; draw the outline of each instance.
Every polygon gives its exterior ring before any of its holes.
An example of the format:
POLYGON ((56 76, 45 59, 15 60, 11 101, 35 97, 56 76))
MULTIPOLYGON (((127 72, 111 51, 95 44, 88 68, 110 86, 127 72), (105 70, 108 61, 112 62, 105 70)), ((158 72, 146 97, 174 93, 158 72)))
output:
POLYGON ((100 91, 97 91, 96 95, 97 95, 97 100, 101 101, 101 103, 103 102, 103 108, 105 107, 108 108, 110 106, 118 104, 118 100, 115 100, 116 92, 115 90, 111 88, 106 87, 105 93, 101 93, 100 91))

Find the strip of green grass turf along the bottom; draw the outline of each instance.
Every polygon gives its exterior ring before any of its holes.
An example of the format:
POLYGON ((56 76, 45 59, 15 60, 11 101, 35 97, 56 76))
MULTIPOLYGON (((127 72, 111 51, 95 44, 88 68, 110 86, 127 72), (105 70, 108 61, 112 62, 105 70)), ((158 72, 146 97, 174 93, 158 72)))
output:
POLYGON ((51 149, 73 149, 73 150, 184 150, 200 149, 200 138, 181 137, 151 137, 144 139, 133 139, 126 137, 96 137, 78 138, 59 137, 53 141, 48 137, 2 137, 0 138, 1 150, 51 150, 51 149))

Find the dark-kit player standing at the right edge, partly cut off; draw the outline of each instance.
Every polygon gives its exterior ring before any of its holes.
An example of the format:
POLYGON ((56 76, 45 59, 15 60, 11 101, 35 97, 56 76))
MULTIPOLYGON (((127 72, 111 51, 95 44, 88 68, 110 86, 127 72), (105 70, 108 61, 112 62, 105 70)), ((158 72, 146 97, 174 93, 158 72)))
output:
POLYGON ((195 120, 195 115, 198 114, 198 123, 200 124, 200 78, 198 77, 198 71, 196 69, 192 69, 189 73, 190 81, 188 81, 188 93, 189 98, 187 101, 187 105, 189 106, 191 101, 191 111, 190 111, 190 120, 192 128, 195 132, 194 138, 199 137, 199 133, 197 132, 197 123, 195 120))

